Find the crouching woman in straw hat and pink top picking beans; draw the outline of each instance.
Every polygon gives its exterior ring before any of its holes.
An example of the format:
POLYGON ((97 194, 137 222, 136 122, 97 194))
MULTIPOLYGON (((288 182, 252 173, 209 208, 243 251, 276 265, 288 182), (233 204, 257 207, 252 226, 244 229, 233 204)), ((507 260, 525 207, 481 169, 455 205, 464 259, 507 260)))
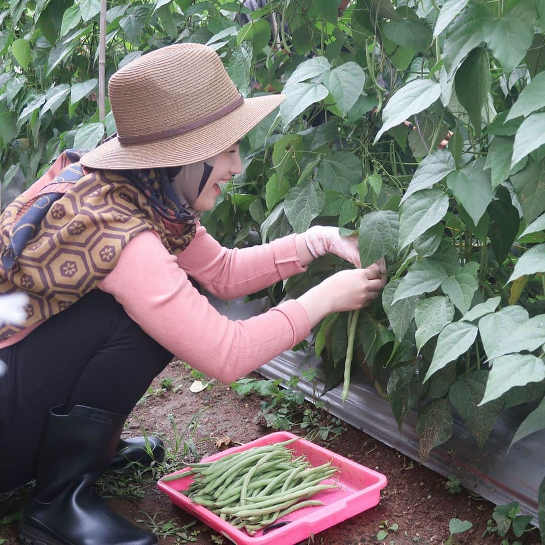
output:
POLYGON ((328 251, 359 265, 356 240, 313 227, 227 250, 199 226, 219 184, 242 170, 238 142, 283 99, 243 99, 213 50, 148 53, 108 91, 117 137, 65 152, 2 216, 0 293, 30 298, 22 326, 0 324, 0 492, 37 481, 25 543, 156 543, 91 487, 119 463, 116 450, 143 459, 142 439, 118 444, 120 433, 172 356, 229 382, 384 286, 383 264, 346 270, 261 316, 220 316, 188 277, 231 299, 328 251))

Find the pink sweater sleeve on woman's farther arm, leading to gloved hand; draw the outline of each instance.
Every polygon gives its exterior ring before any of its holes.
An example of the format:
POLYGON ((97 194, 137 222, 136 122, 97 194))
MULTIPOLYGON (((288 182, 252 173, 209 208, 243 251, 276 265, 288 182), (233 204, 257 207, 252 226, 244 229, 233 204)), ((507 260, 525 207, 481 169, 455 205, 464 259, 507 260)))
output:
POLYGON ((224 300, 256 293, 306 270, 299 264, 295 235, 270 244, 229 250, 202 226, 178 255, 178 264, 207 292, 224 300))

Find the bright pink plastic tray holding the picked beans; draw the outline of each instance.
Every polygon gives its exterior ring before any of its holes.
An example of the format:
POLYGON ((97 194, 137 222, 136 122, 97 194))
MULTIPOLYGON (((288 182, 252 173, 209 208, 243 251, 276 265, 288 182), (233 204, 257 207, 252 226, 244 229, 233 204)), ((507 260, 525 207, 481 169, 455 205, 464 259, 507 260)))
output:
MULTIPOLYGON (((203 458, 203 461, 217 460, 232 452, 240 452, 250 449, 253 446, 280 443, 294 437, 296 435, 289 432, 270 433, 245 445, 233 447, 213 456, 203 458)), ((334 479, 328 479, 324 482, 328 484, 335 483, 340 488, 324 490, 312 496, 312 499, 323 501, 324 505, 304 507, 287 514, 285 517, 278 519, 275 524, 284 520, 289 520, 289 524, 269 531, 265 528, 265 535, 263 535, 263 530, 261 530, 255 536, 249 536, 245 531, 234 528, 234 526, 222 520, 207 508, 193 504, 187 496, 179 492, 179 490, 184 490, 190 485, 193 479, 191 476, 177 481, 159 481, 158 487, 168 494, 173 504, 202 520, 210 528, 226 536, 237 545, 263 545, 264 543, 294 545, 294 543, 305 540, 311 534, 317 534, 378 504, 380 490, 386 486, 386 477, 384 475, 356 464, 348 458, 335 454, 335 452, 314 445, 305 439, 295 441, 288 448, 295 452, 295 456, 304 454, 308 462, 314 466, 331 460, 332 465, 336 465, 340 469, 340 473, 336 473, 334 479)), ((175 475, 186 469, 188 468, 175 471, 171 475, 175 475)))

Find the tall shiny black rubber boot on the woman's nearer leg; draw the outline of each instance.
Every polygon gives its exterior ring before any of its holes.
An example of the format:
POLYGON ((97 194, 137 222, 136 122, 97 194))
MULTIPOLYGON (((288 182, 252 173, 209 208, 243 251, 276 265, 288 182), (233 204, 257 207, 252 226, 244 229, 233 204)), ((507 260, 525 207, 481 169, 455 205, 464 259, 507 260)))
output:
POLYGON ((157 538, 114 513, 92 488, 110 465, 126 415, 75 405, 51 409, 33 498, 19 539, 28 545, 154 545, 157 538))

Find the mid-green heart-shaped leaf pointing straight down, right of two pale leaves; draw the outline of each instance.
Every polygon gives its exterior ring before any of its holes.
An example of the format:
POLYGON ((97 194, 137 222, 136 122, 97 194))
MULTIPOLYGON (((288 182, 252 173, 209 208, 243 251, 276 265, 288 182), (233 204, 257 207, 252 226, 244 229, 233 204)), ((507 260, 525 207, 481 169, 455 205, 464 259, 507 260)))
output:
POLYGON ((446 185, 477 225, 494 197, 490 171, 483 170, 484 159, 477 159, 447 176, 446 185))

